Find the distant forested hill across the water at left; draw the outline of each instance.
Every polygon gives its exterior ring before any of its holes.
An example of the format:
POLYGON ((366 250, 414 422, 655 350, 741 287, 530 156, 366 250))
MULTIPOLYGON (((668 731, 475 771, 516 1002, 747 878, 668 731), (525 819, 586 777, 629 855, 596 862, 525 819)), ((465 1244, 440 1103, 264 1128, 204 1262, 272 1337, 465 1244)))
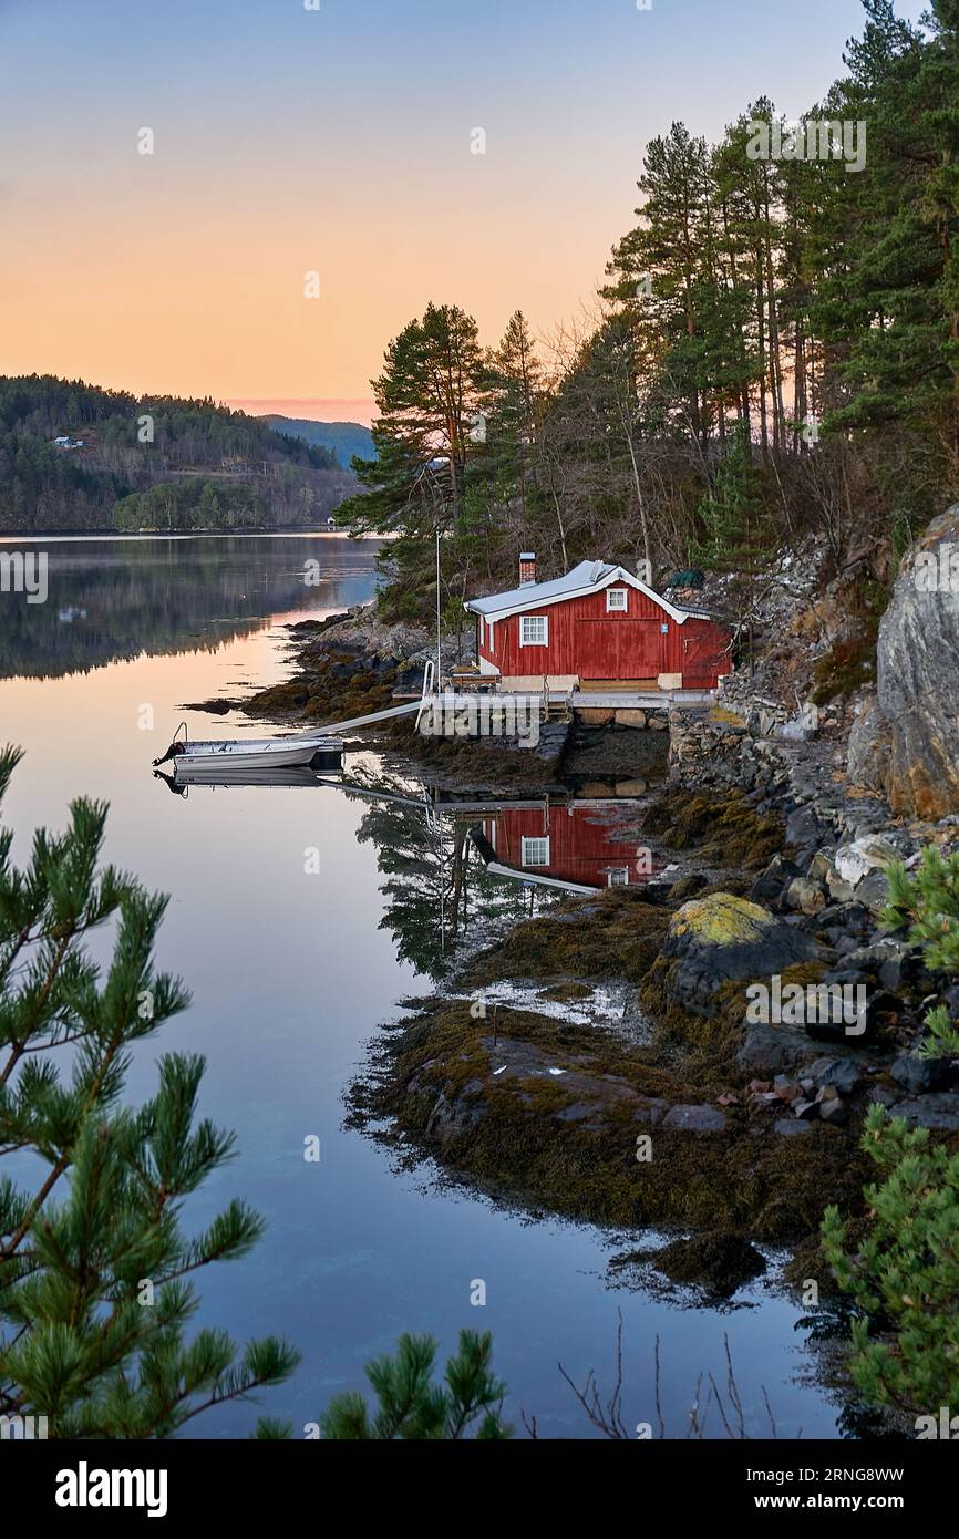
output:
POLYGON ((0 534, 316 528, 356 489, 332 451, 209 399, 0 376, 0 534))

